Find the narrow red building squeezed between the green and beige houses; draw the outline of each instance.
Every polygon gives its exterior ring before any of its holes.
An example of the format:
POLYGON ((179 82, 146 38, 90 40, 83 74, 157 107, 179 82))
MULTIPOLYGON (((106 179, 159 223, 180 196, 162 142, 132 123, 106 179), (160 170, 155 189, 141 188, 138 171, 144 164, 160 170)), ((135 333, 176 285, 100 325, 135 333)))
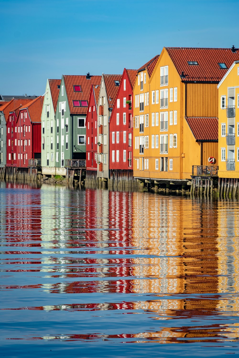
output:
MULTIPOLYGON (((89 106, 86 115, 86 170, 97 171, 97 103, 100 93, 99 85, 92 85, 89 106)), ((89 174, 89 173, 87 173, 89 174)))

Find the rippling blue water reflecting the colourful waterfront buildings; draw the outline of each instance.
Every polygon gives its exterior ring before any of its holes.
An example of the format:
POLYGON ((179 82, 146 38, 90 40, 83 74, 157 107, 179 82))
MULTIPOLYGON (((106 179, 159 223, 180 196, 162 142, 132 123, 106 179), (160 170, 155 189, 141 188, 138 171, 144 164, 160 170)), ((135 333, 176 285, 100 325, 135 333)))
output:
POLYGON ((0 183, 3 357, 239 352, 239 205, 0 183))

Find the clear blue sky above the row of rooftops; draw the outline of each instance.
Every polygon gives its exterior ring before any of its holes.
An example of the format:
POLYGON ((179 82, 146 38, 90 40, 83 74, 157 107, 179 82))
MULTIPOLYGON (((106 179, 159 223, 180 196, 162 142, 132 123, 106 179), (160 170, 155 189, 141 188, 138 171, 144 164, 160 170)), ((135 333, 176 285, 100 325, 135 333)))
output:
POLYGON ((239 0, 0 0, 0 94, 47 78, 123 73, 163 46, 239 48, 239 0))

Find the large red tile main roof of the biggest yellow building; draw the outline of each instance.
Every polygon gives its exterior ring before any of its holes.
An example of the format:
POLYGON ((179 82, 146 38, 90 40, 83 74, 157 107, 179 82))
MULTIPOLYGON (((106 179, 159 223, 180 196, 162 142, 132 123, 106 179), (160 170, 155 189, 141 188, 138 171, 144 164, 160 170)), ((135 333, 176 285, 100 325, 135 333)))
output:
POLYGON ((182 81, 219 82, 231 64, 239 59, 239 50, 232 52, 230 48, 181 48, 166 47, 178 73, 184 72, 182 81), (188 61, 196 61, 198 65, 189 65, 188 61), (225 63, 226 68, 220 68, 225 63))

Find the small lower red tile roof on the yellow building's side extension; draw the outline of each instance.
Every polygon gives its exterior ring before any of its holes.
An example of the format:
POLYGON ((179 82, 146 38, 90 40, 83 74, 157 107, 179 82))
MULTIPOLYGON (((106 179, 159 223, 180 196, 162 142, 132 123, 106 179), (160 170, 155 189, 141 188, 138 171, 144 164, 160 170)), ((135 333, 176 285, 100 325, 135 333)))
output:
POLYGON ((185 117, 196 141, 218 141, 217 117, 185 117))

